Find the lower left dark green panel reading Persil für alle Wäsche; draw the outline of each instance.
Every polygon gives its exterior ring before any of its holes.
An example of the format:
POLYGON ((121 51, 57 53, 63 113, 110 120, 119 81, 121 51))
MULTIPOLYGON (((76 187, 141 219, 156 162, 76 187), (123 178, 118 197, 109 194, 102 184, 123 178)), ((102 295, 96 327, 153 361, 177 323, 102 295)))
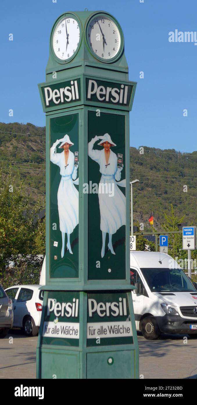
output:
POLYGON ((80 293, 50 291, 47 294, 42 314, 42 344, 79 346, 80 293))

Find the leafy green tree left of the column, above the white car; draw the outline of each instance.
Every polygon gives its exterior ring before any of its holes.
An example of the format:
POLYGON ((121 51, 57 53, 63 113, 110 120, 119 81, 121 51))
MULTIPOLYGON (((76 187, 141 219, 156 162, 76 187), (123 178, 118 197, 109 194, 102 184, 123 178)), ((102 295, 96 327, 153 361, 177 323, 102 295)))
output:
POLYGON ((44 243, 44 232, 38 221, 42 208, 40 200, 30 206, 19 173, 13 176, 11 166, 4 176, 0 170, 0 271, 6 269, 9 261, 18 267, 38 264, 39 247, 40 253, 44 253, 39 241, 42 233, 44 243))

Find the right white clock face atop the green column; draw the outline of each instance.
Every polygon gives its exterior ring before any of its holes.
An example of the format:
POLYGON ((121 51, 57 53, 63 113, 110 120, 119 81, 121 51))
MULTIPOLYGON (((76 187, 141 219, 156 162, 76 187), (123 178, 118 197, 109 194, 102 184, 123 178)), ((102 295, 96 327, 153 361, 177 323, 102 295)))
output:
POLYGON ((89 23, 87 40, 90 49, 104 60, 114 58, 121 45, 116 24, 106 15, 96 15, 89 23))

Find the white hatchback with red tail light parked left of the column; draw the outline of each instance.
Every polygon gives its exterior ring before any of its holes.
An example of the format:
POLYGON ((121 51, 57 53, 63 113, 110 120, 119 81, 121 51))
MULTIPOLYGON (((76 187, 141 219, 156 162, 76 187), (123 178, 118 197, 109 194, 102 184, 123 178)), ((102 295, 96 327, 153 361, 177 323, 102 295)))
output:
POLYGON ((13 328, 22 328, 25 335, 38 334, 42 313, 43 292, 40 284, 6 288, 6 294, 13 303, 13 328))

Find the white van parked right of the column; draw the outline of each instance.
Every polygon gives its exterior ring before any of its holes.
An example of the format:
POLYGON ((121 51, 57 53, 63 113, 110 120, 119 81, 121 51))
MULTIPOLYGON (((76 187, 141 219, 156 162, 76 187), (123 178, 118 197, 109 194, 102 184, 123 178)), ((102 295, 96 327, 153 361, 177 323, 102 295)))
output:
POLYGON ((159 252, 130 252, 136 329, 146 339, 160 333, 197 337, 197 290, 177 262, 159 252))

